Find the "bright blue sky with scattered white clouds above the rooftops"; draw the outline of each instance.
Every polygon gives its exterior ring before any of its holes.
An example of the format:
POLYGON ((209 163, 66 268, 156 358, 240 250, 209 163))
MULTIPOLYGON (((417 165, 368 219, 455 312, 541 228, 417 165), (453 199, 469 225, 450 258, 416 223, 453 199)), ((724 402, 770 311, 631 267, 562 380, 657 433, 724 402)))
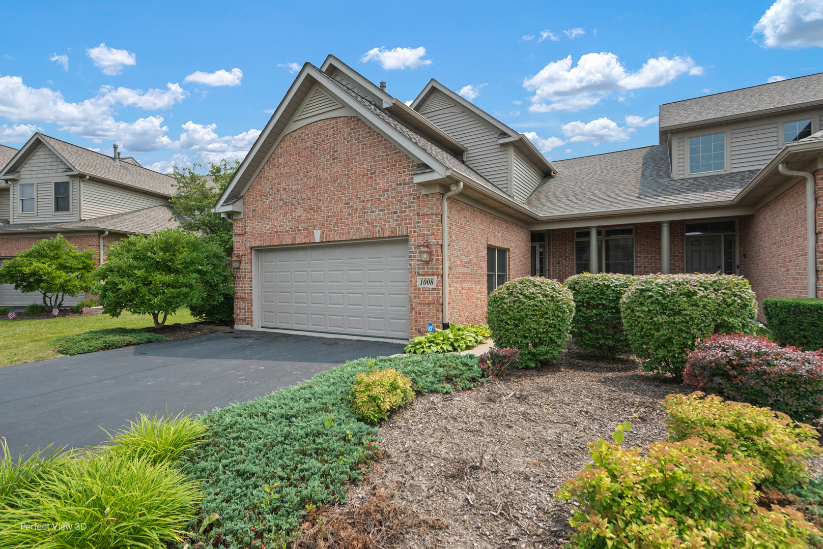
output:
POLYGON ((403 100, 435 78, 550 159, 657 143, 658 104, 823 72, 823 0, 4 5, 0 143, 116 142, 160 171, 242 158, 328 53, 403 100))

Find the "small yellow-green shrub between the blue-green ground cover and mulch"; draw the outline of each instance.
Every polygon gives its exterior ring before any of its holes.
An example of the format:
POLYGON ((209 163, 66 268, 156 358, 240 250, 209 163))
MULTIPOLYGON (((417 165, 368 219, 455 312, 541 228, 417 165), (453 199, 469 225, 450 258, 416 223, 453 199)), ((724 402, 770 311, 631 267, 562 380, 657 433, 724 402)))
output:
POLYGON ((412 400, 412 380, 393 368, 361 372, 351 385, 351 408, 355 417, 369 423, 383 421, 394 408, 412 400))

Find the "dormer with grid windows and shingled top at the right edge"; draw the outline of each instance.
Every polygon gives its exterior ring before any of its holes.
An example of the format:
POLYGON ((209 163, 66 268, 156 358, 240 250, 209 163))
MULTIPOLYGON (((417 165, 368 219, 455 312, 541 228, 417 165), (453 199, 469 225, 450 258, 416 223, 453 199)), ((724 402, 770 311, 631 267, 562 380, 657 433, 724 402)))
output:
POLYGON ((660 105, 672 178, 751 171, 823 128, 823 73, 660 105))

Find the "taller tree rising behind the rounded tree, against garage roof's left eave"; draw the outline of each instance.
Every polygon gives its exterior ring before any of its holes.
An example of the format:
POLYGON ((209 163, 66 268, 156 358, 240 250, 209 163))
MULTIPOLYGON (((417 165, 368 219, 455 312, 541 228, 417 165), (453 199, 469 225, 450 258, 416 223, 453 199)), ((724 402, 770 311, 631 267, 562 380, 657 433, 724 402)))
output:
POLYGON ((197 173, 201 164, 194 163, 191 168, 174 167, 176 193, 171 199, 171 206, 174 216, 182 219, 180 226, 202 234, 209 242, 226 251, 229 257, 234 247, 231 220, 212 212, 212 208, 235 176, 239 165, 239 160, 230 163, 222 159, 218 164, 210 162, 206 176, 197 173))

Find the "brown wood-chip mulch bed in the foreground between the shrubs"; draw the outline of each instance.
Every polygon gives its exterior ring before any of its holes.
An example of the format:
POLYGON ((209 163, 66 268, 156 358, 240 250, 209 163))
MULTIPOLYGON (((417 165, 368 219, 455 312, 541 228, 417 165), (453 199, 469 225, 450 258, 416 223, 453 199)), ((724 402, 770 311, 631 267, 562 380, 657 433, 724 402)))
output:
MULTIPOLYGON (((475 390, 418 397, 381 425, 385 457, 352 487, 348 503, 309 516, 303 533, 317 533, 323 524, 323 541, 314 535, 314 545, 294 547, 338 547, 326 542, 331 524, 357 530, 369 524, 357 518, 361 507, 388 502, 412 522, 406 528, 394 519, 371 524, 366 537, 379 536, 379 528, 391 535, 349 547, 562 547, 572 505, 553 496, 591 463, 588 442, 611 440, 624 421, 632 424, 625 447, 663 440, 660 404, 677 392, 686 390, 642 372, 634 358, 599 360, 570 347, 550 367, 511 371, 475 390), (422 528, 439 523, 444 528, 422 528)), ((349 539, 362 542, 354 535, 349 539)))

